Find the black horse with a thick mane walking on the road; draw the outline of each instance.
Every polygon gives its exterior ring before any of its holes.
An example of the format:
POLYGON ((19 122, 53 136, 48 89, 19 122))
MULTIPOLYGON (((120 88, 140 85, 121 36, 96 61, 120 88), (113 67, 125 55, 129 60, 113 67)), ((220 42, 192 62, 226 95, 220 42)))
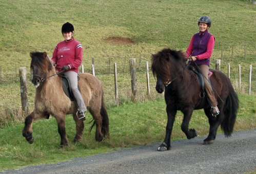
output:
POLYGON ((210 124, 209 135, 204 144, 213 143, 219 125, 226 137, 231 136, 239 107, 238 96, 229 78, 220 71, 211 71, 213 74, 210 82, 220 109, 220 114, 216 117, 211 115, 207 98, 200 95, 201 86, 195 74, 187 68, 186 59, 181 51, 163 49, 152 55, 152 72, 157 78, 155 89, 159 93, 165 91, 168 116, 165 140, 159 146, 159 151, 169 150, 171 146, 171 132, 177 111, 184 114, 181 128, 188 139, 197 136, 195 129, 189 129, 193 110, 202 108, 210 124))

